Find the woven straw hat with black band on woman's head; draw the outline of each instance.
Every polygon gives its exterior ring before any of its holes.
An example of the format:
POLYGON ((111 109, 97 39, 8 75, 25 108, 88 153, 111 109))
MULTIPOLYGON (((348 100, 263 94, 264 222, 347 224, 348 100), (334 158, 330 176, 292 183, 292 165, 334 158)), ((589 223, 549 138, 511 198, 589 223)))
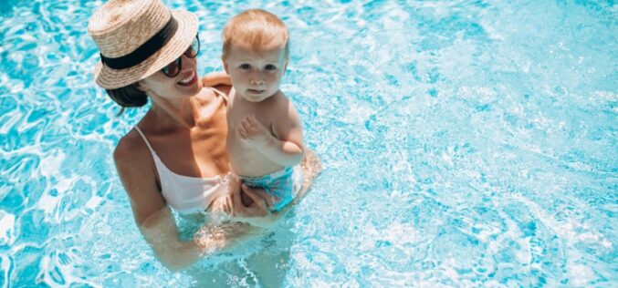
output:
POLYGON ((197 35, 197 17, 171 11, 161 0, 110 0, 90 17, 88 33, 100 49, 94 71, 100 87, 125 87, 183 55, 197 35))

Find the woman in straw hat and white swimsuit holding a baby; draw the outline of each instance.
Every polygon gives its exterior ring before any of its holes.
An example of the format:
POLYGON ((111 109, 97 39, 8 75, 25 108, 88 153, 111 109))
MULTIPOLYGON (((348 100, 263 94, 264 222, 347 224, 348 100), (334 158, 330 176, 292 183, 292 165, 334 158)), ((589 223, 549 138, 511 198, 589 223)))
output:
MULTIPOLYGON (((272 200, 263 190, 243 191, 253 200, 240 201, 240 184, 225 180, 225 93, 204 84, 229 84, 223 73, 199 80, 197 19, 170 11, 161 0, 112 0, 91 16, 89 35, 100 47, 96 83, 123 107, 152 108, 114 150, 120 180, 131 201, 137 225, 160 261, 172 270, 196 262, 205 252, 243 242, 252 228, 237 223, 226 229, 204 228, 204 237, 181 242, 169 207, 181 213, 225 211, 254 224, 276 221, 272 200), (230 191, 230 192, 228 192, 230 191)), ((306 154, 306 190, 319 171, 319 161, 306 154)), ((301 194, 304 193, 304 190, 301 194)))

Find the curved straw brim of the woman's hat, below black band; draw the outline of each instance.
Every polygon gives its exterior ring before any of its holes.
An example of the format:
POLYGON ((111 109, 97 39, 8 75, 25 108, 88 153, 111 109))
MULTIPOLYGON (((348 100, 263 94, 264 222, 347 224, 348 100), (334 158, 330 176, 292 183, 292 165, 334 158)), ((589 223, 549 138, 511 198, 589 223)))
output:
POLYGON ((172 11, 172 15, 178 21, 178 30, 159 51, 126 69, 112 69, 99 61, 94 69, 95 82, 106 89, 125 87, 151 76, 183 55, 197 35, 197 17, 186 11, 172 11))

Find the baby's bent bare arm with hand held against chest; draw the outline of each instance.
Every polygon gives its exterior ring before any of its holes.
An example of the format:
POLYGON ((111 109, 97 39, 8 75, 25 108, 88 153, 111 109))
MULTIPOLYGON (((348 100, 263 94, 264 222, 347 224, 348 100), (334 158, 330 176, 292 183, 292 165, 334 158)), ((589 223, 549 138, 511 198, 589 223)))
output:
POLYGON ((271 114, 275 136, 270 134, 253 115, 243 120, 237 136, 253 142, 260 152, 273 162, 286 167, 295 166, 302 159, 304 149, 299 114, 288 98, 283 95, 277 97, 271 114))

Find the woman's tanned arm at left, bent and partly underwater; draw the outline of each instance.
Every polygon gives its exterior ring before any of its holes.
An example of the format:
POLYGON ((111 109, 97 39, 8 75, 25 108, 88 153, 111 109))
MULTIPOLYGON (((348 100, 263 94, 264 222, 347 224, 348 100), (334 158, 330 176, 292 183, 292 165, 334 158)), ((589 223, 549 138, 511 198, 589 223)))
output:
POLYGON ((221 230, 209 228, 202 237, 182 242, 172 212, 157 186, 153 162, 134 160, 150 157, 150 151, 136 133, 120 139, 114 150, 114 162, 131 201, 135 222, 165 267, 182 270, 208 252, 225 251, 251 237, 246 227, 236 224, 221 230))

